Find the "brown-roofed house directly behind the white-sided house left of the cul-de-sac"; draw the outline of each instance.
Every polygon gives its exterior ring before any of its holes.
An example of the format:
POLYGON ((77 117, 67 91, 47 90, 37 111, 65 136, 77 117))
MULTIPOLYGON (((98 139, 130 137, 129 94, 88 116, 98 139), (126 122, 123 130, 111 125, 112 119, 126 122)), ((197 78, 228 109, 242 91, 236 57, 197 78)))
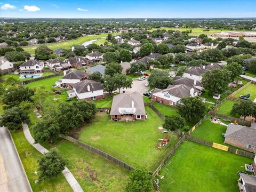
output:
POLYGON ((89 74, 83 73, 82 71, 73 70, 68 74, 64 75, 59 81, 55 82, 55 85, 58 87, 67 87, 72 86, 75 83, 81 82, 84 79, 87 79, 89 74))

